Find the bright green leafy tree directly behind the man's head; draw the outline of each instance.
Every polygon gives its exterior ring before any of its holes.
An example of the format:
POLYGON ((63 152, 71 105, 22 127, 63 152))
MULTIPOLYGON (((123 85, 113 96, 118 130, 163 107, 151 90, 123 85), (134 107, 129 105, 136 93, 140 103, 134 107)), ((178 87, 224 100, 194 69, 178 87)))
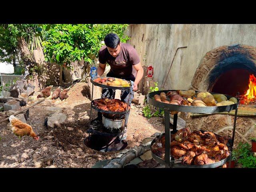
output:
POLYGON ((71 62, 81 60, 91 63, 98 56, 106 34, 114 32, 121 42, 128 40, 124 31, 128 24, 53 24, 43 25, 42 33, 46 60, 71 67, 71 62))

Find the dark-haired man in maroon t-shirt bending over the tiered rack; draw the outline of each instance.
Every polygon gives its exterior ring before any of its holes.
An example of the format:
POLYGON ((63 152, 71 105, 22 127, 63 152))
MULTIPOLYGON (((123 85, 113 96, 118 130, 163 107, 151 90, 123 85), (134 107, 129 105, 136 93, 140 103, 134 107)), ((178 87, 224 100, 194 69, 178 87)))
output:
MULTIPOLYGON (((99 66, 97 68, 97 76, 100 77, 106 68, 106 62, 110 65, 110 71, 107 77, 121 78, 130 80, 131 84, 131 97, 129 106, 132 103, 134 97, 134 91, 138 90, 138 83, 143 76, 143 68, 140 64, 140 58, 136 50, 127 43, 120 43, 120 38, 117 34, 110 33, 104 38, 105 46, 102 46, 99 51, 99 66)), ((122 90, 121 100, 128 102, 129 99, 128 90, 122 90)), ((115 90, 104 88, 102 90, 102 98, 115 98, 115 90)), ((127 137, 127 122, 130 114, 130 110, 127 112, 127 118, 125 122, 123 140, 127 137)), ((98 112, 98 117, 95 120, 102 121, 102 113, 98 112)), ((93 120, 94 121, 94 120, 93 120)))

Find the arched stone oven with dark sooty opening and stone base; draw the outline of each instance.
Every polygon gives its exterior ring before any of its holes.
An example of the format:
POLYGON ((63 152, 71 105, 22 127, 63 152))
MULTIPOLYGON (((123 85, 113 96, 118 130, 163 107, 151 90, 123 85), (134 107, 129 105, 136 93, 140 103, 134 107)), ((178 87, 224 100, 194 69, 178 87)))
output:
MULTIPOLYGON (((244 95, 248 90, 250 74, 256 76, 255 47, 242 44, 221 46, 207 52, 202 58, 194 74, 191 88, 231 96, 236 96, 237 92, 244 95)), ((239 110, 256 112, 256 107, 243 106, 239 107, 239 110)), ((188 114, 185 119, 186 127, 191 130, 200 128, 232 136, 233 115, 214 114, 191 117, 188 114)), ((256 116, 238 115, 234 146, 237 146, 240 141, 250 143, 250 138, 256 136, 255 126, 256 116)))

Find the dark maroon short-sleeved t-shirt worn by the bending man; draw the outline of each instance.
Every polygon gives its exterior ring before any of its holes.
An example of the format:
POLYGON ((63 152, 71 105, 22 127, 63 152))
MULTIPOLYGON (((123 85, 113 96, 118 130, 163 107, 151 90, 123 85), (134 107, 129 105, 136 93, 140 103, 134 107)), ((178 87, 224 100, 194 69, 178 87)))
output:
POLYGON ((117 57, 111 56, 106 46, 100 48, 99 62, 101 64, 107 62, 110 65, 107 76, 134 81, 137 71, 132 66, 138 64, 140 58, 130 44, 120 43, 120 52, 117 57))

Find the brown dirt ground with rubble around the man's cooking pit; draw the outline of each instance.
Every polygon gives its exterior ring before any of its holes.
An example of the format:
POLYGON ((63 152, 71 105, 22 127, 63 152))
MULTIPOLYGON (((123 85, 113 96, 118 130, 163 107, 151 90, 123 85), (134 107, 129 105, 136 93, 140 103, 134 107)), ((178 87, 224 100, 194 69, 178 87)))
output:
MULTIPOLYGON (((0 168, 90 168, 99 160, 111 159, 118 152, 99 152, 86 147, 83 143, 88 136, 90 100, 87 83, 77 83, 68 92, 69 97, 52 102, 46 98, 44 102, 30 108, 27 123, 40 139, 29 136, 18 138, 6 126, 9 121, 0 124, 0 168), (58 128, 46 128, 44 119, 47 108, 62 108, 67 119, 58 128), (68 129, 69 128, 69 129, 68 129), (73 130, 71 129, 73 128, 73 130), (53 137, 47 137, 53 136, 53 137)), ((36 94, 34 94, 36 97, 36 94)), ((27 104, 28 107, 34 101, 27 104)), ((22 109, 24 107, 21 107, 22 109)), ((164 132, 162 118, 147 119, 142 116, 142 107, 132 104, 128 120, 128 147, 138 146, 140 142, 156 132, 164 132)), ((97 112, 92 109, 92 118, 97 112)), ((4 116, 0 116, 2 120, 4 116)))

